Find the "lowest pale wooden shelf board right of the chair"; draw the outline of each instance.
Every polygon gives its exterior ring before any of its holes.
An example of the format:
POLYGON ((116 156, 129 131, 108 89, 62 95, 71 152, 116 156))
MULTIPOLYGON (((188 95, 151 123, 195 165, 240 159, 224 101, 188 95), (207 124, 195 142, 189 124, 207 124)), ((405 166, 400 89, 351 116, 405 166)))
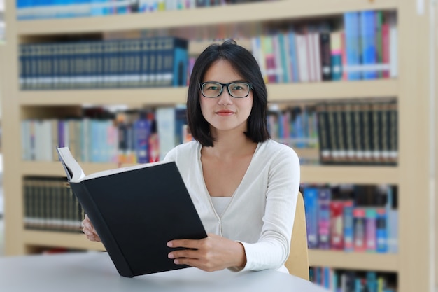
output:
POLYGON ((309 249, 309 265, 381 272, 400 270, 399 256, 393 253, 346 253, 309 249))

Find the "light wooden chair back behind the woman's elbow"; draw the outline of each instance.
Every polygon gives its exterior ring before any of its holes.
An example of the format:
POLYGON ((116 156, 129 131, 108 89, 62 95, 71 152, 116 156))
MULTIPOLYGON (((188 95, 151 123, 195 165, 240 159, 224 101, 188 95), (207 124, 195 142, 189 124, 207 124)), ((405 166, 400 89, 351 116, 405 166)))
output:
POLYGON ((285 266, 290 274, 309 281, 306 212, 304 210, 304 198, 301 193, 298 193, 292 239, 290 239, 290 254, 285 266))

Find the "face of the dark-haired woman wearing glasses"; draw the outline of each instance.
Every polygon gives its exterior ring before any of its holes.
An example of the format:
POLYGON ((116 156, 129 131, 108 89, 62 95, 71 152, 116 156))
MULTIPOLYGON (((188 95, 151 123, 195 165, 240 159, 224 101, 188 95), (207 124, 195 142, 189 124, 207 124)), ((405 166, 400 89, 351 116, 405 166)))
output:
MULTIPOLYGON (((231 64, 226 60, 218 60, 206 71, 204 80, 218 83, 231 83, 235 81, 247 82, 237 74, 231 64)), ((211 130, 246 131, 246 120, 253 107, 253 91, 247 97, 235 98, 229 95, 227 88, 223 88, 219 97, 209 98, 202 95, 199 90, 199 100, 204 118, 209 122, 211 130)))

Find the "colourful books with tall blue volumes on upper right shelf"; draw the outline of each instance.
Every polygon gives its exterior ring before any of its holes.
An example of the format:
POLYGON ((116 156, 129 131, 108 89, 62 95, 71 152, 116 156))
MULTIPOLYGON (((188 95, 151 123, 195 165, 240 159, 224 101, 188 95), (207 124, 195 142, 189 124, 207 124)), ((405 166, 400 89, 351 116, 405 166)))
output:
POLYGON ((329 22, 292 25, 286 32, 256 36, 253 55, 267 83, 395 78, 395 12, 343 15, 341 29, 329 22))

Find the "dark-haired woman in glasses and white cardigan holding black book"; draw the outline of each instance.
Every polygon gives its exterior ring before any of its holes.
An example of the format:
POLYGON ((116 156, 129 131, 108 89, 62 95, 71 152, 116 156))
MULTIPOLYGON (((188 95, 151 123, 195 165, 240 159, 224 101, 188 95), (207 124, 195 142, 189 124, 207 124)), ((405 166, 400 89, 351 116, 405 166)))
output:
MULTIPOLYGON (((176 146, 175 161, 208 237, 177 239, 169 258, 205 271, 277 269, 288 258, 299 188, 292 148, 269 139, 267 89, 251 53, 234 41, 197 58, 188 88, 195 141, 176 146)), ((99 241, 85 216, 83 232, 99 241)))

